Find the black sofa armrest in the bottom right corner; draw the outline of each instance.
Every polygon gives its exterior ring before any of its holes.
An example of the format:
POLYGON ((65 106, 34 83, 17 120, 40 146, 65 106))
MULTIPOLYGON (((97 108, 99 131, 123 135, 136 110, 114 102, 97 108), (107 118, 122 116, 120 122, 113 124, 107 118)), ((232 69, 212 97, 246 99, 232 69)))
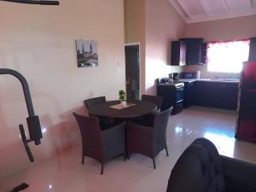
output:
POLYGON ((220 155, 224 166, 224 180, 228 192, 255 192, 256 165, 220 155))

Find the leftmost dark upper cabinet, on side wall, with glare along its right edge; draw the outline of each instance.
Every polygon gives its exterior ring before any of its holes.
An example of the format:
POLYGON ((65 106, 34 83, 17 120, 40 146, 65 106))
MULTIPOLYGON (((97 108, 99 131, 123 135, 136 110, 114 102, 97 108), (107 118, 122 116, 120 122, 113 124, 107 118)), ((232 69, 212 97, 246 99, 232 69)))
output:
POLYGON ((186 64, 186 43, 184 41, 172 42, 172 66, 183 66, 186 64))

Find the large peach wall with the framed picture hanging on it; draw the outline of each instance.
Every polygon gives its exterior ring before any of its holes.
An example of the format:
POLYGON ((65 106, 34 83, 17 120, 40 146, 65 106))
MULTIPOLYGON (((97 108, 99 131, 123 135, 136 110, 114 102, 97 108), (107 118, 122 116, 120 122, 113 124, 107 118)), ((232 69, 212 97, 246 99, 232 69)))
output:
MULTIPOLYGON (((22 73, 41 119, 36 163, 80 143, 74 111, 83 100, 117 99, 125 88, 124 9, 120 0, 61 0, 60 6, 1 2, 0 67, 22 73), (75 39, 98 42, 99 67, 78 68, 75 39)), ((26 106, 18 80, 0 76, 0 177, 32 166, 19 138, 26 106)), ((1 180, 1 179, 0 179, 1 180)))

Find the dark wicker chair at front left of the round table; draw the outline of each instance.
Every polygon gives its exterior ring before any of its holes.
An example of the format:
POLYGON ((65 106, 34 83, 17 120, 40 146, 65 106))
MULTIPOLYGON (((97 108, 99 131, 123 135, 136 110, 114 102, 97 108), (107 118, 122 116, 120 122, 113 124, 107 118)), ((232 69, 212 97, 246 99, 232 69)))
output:
POLYGON ((81 116, 73 113, 79 124, 82 137, 82 165, 84 156, 91 157, 102 164, 119 154, 125 155, 125 123, 115 125, 106 131, 101 131, 99 121, 96 117, 81 116))

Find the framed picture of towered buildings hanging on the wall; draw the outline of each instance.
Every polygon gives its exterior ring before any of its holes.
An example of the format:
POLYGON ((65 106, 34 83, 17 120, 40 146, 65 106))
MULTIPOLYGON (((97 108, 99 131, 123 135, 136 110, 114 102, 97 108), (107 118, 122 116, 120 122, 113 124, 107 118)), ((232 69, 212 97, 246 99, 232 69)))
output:
POLYGON ((98 53, 96 41, 76 40, 78 67, 97 67, 98 53))

